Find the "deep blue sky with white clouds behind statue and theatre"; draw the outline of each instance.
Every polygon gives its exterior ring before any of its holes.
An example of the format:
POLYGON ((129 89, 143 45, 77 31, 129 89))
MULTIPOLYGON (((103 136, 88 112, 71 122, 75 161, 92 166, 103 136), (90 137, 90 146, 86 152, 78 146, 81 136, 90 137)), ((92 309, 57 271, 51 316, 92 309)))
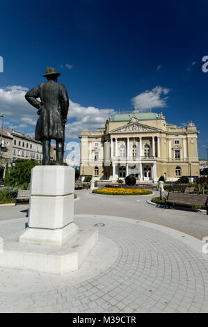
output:
POLYGON ((33 134, 38 115, 26 89, 61 72, 70 95, 67 141, 109 114, 151 106, 168 122, 193 120, 207 157, 207 1, 4 1, 0 111, 6 126, 33 134), (132 102, 132 99, 136 98, 132 102))

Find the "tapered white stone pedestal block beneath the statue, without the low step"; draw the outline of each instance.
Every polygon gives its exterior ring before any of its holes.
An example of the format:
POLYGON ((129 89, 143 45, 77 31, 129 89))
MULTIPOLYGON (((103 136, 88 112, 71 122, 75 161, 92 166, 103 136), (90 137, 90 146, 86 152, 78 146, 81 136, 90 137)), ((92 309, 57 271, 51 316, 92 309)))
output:
POLYGON ((20 242, 62 246, 78 232, 74 219, 74 169, 35 166, 31 173, 29 228, 20 242))

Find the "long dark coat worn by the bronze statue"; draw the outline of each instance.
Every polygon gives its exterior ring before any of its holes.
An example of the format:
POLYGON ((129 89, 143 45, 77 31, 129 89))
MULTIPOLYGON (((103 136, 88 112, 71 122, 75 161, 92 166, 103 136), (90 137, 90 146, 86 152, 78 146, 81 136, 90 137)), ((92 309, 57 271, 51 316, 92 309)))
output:
POLYGON ((64 140, 65 122, 69 109, 69 97, 65 86, 50 79, 32 88, 26 100, 40 109, 35 128, 35 140, 64 140), (37 100, 40 97, 41 103, 37 100))

